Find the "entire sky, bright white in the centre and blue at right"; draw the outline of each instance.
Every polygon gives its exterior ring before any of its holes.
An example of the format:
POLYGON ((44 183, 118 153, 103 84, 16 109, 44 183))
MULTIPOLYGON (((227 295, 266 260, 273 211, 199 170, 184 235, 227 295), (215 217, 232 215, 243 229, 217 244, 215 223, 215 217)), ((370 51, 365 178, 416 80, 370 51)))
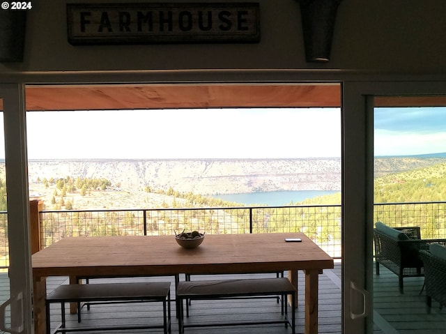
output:
MULTIPOLYGON (((337 108, 28 112, 26 119, 29 159, 341 156, 337 108)), ((376 108, 374 123, 375 155, 446 152, 445 107, 376 108)))

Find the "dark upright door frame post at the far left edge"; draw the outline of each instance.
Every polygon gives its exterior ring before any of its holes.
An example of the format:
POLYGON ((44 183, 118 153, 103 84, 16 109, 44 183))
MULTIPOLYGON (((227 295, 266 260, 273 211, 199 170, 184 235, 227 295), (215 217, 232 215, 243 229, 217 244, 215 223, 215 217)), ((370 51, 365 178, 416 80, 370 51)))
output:
POLYGON ((10 333, 33 333, 32 271, 29 238, 29 188, 26 158, 24 84, 0 84, 3 99, 9 239, 10 325, 1 309, 0 324, 10 333))

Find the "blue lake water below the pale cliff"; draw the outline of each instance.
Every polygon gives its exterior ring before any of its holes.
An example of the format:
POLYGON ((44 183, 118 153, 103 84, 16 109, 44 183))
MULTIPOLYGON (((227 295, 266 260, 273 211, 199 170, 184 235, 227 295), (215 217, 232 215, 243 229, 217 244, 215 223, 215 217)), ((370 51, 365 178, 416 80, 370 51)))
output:
POLYGON ((236 202, 240 204, 265 204, 268 206, 282 206, 291 202, 301 202, 304 199, 330 195, 339 190, 295 190, 295 191, 272 191, 272 192, 252 192, 249 194, 226 194, 213 195, 212 197, 223 199, 224 201, 236 202))

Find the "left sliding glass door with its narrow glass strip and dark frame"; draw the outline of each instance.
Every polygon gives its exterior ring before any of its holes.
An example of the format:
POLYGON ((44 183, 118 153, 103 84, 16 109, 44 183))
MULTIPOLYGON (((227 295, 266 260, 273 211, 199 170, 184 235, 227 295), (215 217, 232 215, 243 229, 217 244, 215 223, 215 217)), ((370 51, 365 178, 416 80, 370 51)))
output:
POLYGON ((0 149, 3 154, 0 157, 3 158, 3 168, 0 169, 0 279, 5 282, 1 285, 0 330, 32 333, 24 86, 1 85, 0 97, 4 128, 4 142, 1 140, 3 146, 0 149))

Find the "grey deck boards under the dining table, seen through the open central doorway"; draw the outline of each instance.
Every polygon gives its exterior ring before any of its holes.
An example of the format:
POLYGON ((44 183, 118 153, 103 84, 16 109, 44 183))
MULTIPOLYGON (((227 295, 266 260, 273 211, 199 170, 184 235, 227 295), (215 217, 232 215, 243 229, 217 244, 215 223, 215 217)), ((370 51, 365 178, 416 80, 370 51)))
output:
MULTIPOLYGON (((340 268, 339 268, 340 273, 340 268)), ((241 277, 272 277, 273 274, 265 275, 242 275, 241 277)), ((302 274, 300 274, 302 275, 302 274)), ((332 271, 333 278, 337 278, 335 271, 332 271)), ((240 277, 238 275, 231 275, 231 278, 240 277)), ((194 276, 192 279, 219 279, 228 278, 223 275, 208 275, 208 276, 194 276)), ((172 280, 169 277, 157 278, 133 278, 139 282, 146 280, 172 280)), ((300 278, 300 298, 299 307, 296 310, 296 333, 304 332, 304 284, 303 275, 300 278)), ((125 282, 129 279, 119 278, 114 281, 125 282)), ((336 279, 335 279, 336 280, 336 279)), ((101 280, 95 280, 100 282, 101 280)), ((102 280, 105 282, 106 280, 102 280)), ((59 284, 66 284, 66 278, 51 278, 47 282, 48 292, 57 287, 59 284)), ((172 289, 174 282, 172 280, 172 289)), ((174 291, 171 291, 172 298, 174 298, 174 291)), ((319 333, 341 333, 341 290, 336 283, 332 282, 328 275, 320 276, 320 298, 321 305, 319 307, 319 333), (323 302, 322 302, 323 300, 323 302)), ((157 303, 147 304, 116 304, 116 305, 94 305, 91 310, 82 310, 82 324, 89 324, 89 321, 95 321, 96 324, 139 324, 157 323, 160 324, 162 317, 162 306, 157 303)), ((175 317, 175 303, 172 303, 172 333, 178 333, 178 321, 175 317)), ((57 326, 60 322, 60 306, 54 305, 52 307, 52 328, 57 326)), ((70 321, 67 326, 78 326, 75 314, 68 314, 70 321)), ((193 301, 190 306, 190 319, 194 323, 206 323, 206 321, 218 322, 224 324, 226 321, 251 321, 251 320, 266 320, 266 319, 282 319, 280 304, 271 298, 260 299, 242 299, 242 300, 220 300, 220 301, 193 301)), ((187 321, 187 319, 186 319, 187 321)), ((125 331, 125 333, 162 333, 161 329, 144 330, 144 331, 125 331)), ((84 333, 98 333, 84 332, 84 333)), ((101 333, 101 332, 99 332, 101 333)), ((107 331, 107 333, 122 333, 122 331, 107 331)), ((291 328, 285 328, 284 324, 274 325, 250 325, 250 326, 219 326, 219 327, 202 327, 202 328, 186 328, 185 333, 189 334, 270 334, 270 333, 291 333, 291 328)))

